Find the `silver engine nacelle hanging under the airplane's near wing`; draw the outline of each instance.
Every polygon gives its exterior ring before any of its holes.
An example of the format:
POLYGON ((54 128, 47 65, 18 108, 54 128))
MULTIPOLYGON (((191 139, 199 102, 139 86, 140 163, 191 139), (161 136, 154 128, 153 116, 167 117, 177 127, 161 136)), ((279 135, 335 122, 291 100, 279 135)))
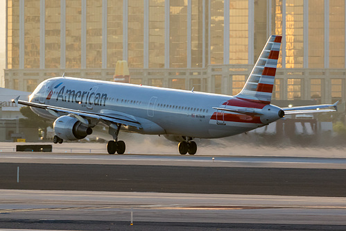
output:
POLYGON ((61 139, 76 140, 83 139, 92 134, 92 128, 89 128, 78 119, 69 116, 62 116, 55 119, 53 123, 54 132, 61 139))

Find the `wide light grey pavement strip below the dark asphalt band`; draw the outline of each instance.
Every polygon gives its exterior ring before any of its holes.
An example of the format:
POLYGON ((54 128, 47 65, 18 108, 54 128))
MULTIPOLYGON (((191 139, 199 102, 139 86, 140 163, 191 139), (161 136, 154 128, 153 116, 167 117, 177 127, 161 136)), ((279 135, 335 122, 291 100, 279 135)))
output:
POLYGON ((39 223, 46 228, 123 230, 130 228, 131 211, 139 230, 346 228, 345 198, 35 190, 0 190, 0 194, 2 228, 39 223))

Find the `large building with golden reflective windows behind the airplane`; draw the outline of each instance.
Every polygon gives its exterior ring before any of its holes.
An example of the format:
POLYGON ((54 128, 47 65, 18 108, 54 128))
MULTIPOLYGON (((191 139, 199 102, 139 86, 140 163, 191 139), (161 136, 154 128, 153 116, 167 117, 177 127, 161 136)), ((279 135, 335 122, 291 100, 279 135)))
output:
POLYGON ((238 93, 283 35, 273 99, 345 102, 344 0, 7 0, 5 86, 52 76, 238 93))

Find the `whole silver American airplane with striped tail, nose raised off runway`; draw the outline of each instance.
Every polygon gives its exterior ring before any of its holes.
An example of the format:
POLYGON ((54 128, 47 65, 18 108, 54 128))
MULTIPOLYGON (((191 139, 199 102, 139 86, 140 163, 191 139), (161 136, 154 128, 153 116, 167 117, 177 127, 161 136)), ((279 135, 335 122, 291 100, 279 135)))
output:
POLYGON ((123 154, 120 130, 164 135, 179 142, 178 151, 194 155, 193 139, 229 137, 282 119, 285 114, 333 112, 333 105, 279 108, 270 104, 282 36, 271 35, 245 86, 236 96, 210 94, 128 83, 61 77, 44 80, 27 105, 36 114, 54 120, 54 144, 84 139, 96 125, 108 128, 109 154, 123 154))

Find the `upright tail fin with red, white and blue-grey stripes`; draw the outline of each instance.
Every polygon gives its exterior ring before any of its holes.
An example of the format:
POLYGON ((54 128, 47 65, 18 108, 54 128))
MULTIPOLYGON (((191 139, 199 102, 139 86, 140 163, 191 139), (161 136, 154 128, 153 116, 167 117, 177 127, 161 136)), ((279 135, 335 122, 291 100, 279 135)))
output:
POLYGON ((269 104, 272 99, 277 59, 282 36, 271 35, 259 59, 254 65, 248 81, 236 98, 269 104))

